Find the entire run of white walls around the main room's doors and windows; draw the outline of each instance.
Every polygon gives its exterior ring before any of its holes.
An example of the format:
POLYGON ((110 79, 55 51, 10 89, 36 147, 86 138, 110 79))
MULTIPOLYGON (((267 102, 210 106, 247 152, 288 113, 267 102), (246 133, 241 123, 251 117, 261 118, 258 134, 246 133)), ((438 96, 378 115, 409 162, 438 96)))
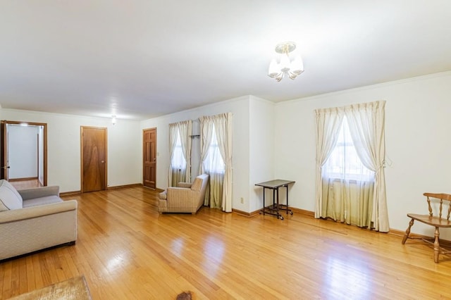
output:
MULTIPOLYGON (((390 228, 405 230, 406 213, 427 212, 424 192, 451 193, 450 99, 451 72, 447 72, 279 104, 242 96, 142 122, 118 120, 114 127, 106 118, 8 109, 0 110, 0 118, 48 124, 48 183, 67 192, 80 190, 80 125, 108 127, 110 186, 142 182, 142 129, 156 127, 156 186, 166 189, 168 125, 194 120, 193 134, 199 134, 200 116, 232 112, 233 208, 258 210, 261 189, 254 184, 279 178, 296 181, 290 187, 290 206, 314 211, 314 109, 385 100, 386 149, 392 162, 385 168, 390 228)), ((199 148, 199 140, 193 140, 193 147, 199 148)), ((193 149, 193 155, 199 153, 193 149)), ((193 175, 199 170, 195 161, 193 175)), ((412 231, 431 235, 421 225, 412 231)), ((449 233, 443 237, 451 239, 449 233)))

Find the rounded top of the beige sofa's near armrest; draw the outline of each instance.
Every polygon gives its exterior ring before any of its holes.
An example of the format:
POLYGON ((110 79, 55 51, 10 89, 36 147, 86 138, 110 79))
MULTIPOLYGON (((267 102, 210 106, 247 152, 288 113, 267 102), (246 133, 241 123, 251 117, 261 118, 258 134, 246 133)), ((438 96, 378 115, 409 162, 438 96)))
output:
POLYGON ((39 218, 44 215, 53 215, 55 213, 63 213, 65 211, 75 211, 77 207, 78 202, 76 200, 68 200, 52 204, 18 208, 11 211, 2 211, 0 213, 0 224, 31 218, 39 218))

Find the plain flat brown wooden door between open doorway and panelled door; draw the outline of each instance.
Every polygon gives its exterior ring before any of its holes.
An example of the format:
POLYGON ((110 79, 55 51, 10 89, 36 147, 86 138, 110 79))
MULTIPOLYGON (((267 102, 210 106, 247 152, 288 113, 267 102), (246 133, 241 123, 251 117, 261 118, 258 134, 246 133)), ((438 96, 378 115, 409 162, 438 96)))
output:
POLYGON ((106 128, 81 127, 82 193, 106 189, 106 128))

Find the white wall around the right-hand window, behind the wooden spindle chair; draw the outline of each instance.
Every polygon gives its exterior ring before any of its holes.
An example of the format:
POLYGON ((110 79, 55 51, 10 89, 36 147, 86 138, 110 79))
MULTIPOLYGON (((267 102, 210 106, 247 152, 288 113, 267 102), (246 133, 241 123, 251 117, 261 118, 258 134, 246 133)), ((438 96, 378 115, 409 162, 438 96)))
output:
MULTIPOLYGON (((427 213, 424 192, 451 193, 450 99, 446 72, 277 104, 275 175, 296 181, 290 204, 315 208, 314 109, 385 100, 390 228, 405 230, 406 213, 427 213)), ((416 224, 412 232, 431 235, 432 230, 416 224)))

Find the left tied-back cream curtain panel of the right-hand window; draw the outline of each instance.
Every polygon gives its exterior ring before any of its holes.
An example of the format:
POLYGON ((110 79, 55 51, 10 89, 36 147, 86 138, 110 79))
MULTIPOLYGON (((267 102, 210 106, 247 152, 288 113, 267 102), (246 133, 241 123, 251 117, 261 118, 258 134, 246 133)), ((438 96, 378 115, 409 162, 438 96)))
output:
POLYGON ((323 182, 321 170, 337 144, 343 115, 338 108, 317 109, 316 113, 316 201, 315 218, 321 218, 323 208, 323 182))

